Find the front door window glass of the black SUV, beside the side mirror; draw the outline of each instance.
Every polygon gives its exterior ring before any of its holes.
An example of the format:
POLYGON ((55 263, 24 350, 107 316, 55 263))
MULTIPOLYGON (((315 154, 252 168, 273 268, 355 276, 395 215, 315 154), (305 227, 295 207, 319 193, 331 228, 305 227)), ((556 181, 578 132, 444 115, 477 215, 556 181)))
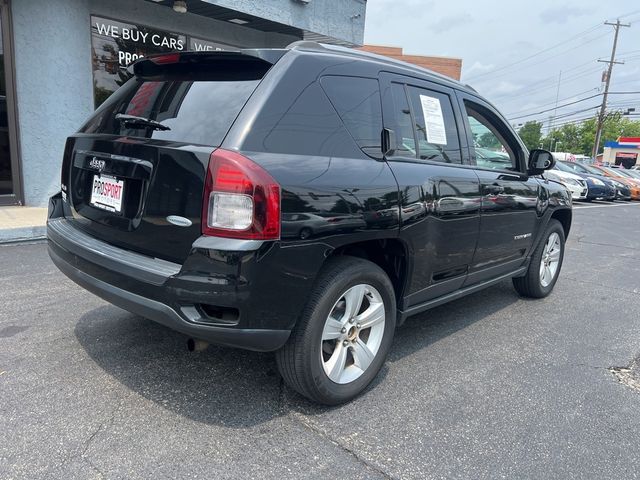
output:
MULTIPOLYGON (((519 170, 518 157, 495 124, 465 101, 476 165, 493 170, 519 170)), ((497 120, 496 120, 497 122, 497 120)))

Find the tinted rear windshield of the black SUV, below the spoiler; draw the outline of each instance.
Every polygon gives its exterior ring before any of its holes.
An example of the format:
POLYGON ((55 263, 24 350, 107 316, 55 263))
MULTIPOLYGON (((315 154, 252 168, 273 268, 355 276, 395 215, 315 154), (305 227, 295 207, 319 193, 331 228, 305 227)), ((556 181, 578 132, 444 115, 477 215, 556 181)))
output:
POLYGON ((132 79, 80 131, 219 146, 259 82, 132 79), (125 125, 116 119, 119 113, 160 122, 169 129, 125 125))

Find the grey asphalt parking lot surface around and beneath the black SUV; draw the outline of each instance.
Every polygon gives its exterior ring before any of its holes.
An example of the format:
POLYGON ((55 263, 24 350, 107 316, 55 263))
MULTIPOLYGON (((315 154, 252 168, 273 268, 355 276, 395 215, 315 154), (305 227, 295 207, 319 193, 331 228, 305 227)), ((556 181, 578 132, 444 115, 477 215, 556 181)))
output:
POLYGON ((505 282, 408 320, 336 408, 272 355, 188 353, 42 243, 0 262, 0 478, 640 476, 640 203, 576 206, 549 298, 505 282))

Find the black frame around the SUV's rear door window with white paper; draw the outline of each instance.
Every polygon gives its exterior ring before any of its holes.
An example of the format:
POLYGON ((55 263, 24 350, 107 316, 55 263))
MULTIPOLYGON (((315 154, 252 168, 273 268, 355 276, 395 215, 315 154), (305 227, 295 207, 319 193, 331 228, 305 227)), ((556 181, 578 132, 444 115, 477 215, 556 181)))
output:
MULTIPOLYGON (((438 93, 440 95, 447 96, 449 98, 449 102, 451 105, 451 110, 453 112, 453 119, 455 122, 456 135, 458 140, 458 150, 460 152, 460 160, 457 163, 448 163, 442 162, 439 160, 427 160, 421 159, 418 157, 419 149, 416 150, 415 157, 409 157, 402 154, 394 154, 391 156, 386 156, 385 160, 388 161, 396 161, 396 162, 410 162, 410 163, 420 163, 425 165, 440 165, 440 166, 448 166, 448 167, 469 167, 466 160, 469 156, 468 152, 468 140, 467 135, 463 124, 463 118, 460 111, 460 105, 457 100, 456 92, 453 88, 441 85, 439 83, 431 82, 428 80, 424 80, 421 78, 412 77, 409 75, 403 75, 394 72, 381 72, 380 73, 380 87, 381 87, 381 96, 382 96, 382 118, 383 118, 383 126, 384 128, 388 128, 393 130, 396 134, 399 131, 398 125, 396 125, 395 120, 395 104, 393 101, 392 94, 392 84, 400 84, 403 86, 404 94, 407 99, 407 104, 409 105, 409 111, 411 114, 412 121, 412 132, 414 136, 414 142, 417 147, 417 133, 415 128, 415 113, 413 102, 411 102, 411 97, 409 95, 409 87, 415 87, 418 89, 423 89, 427 91, 432 91, 434 93, 438 93)), ((446 125, 446 124, 445 124, 446 125)), ((397 137, 397 135, 396 135, 397 137)), ((397 142, 397 138, 396 138, 397 142)), ((397 143, 396 143, 397 146, 397 143)))

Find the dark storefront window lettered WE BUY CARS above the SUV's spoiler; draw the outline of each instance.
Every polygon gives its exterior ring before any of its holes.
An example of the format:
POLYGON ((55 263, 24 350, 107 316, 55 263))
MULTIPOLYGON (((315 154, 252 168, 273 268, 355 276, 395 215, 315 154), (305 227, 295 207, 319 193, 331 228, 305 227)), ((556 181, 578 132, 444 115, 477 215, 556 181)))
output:
POLYGON ((128 79, 127 66, 141 57, 187 50, 235 49, 231 45, 187 37, 145 25, 91 17, 93 94, 97 108, 128 79))

